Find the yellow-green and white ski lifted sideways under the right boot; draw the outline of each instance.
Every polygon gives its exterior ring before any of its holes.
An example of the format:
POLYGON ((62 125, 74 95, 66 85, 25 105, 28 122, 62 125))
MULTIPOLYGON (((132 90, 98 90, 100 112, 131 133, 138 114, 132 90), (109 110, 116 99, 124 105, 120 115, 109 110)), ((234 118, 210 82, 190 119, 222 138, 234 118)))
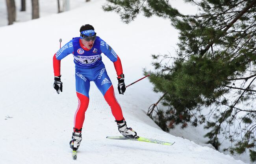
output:
POLYGON ((175 142, 170 143, 170 142, 165 142, 165 141, 160 141, 160 140, 154 140, 154 139, 145 138, 145 137, 127 138, 124 136, 107 136, 106 138, 113 139, 113 140, 132 140, 132 141, 149 142, 149 143, 161 144, 161 145, 173 145, 175 143, 175 142))

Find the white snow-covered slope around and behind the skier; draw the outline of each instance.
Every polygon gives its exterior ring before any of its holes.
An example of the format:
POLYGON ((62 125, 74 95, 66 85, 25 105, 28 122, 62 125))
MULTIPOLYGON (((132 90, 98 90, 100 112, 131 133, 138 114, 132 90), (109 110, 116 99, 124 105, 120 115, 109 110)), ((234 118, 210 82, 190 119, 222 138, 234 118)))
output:
MULTIPOLYGON (((143 68, 152 69, 150 54, 173 52, 177 41, 177 31, 168 20, 140 16, 126 25, 117 14, 104 13, 103 3, 95 0, 75 11, 0 28, 0 164, 244 164, 161 131, 145 114, 161 96, 152 92, 148 79, 127 88, 124 95, 115 90, 128 126, 139 136, 176 143, 162 146, 106 139, 120 134, 110 108, 91 83, 83 140, 78 159, 72 160, 69 141, 77 107, 74 63, 71 55, 61 61, 63 92, 56 94, 52 57, 59 38, 64 44, 79 36, 82 24, 92 24, 121 58, 126 84, 142 77, 143 68)), ((113 63, 104 55, 103 61, 116 88, 113 63)))

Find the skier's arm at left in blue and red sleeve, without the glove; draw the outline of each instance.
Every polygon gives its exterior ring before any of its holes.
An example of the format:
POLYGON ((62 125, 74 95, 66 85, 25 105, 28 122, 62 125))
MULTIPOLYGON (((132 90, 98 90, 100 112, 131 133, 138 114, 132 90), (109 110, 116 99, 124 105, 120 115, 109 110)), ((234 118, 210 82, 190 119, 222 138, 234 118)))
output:
POLYGON ((65 44, 61 49, 58 50, 53 56, 53 70, 54 76, 60 76, 60 63, 61 59, 74 52, 72 40, 65 44))

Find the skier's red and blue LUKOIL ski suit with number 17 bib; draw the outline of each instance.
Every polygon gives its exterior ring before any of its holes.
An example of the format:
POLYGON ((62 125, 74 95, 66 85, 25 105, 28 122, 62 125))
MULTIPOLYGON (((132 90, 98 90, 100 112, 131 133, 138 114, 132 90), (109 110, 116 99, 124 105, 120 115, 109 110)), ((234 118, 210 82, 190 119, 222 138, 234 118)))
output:
POLYGON ((101 53, 104 53, 114 63, 117 76, 119 76, 122 74, 122 64, 115 51, 100 37, 96 38, 91 50, 82 44, 79 37, 73 38, 54 54, 54 76, 60 76, 60 61, 71 53, 75 63, 76 95, 78 97, 78 107, 74 114, 74 128, 82 129, 85 111, 89 104, 91 81, 94 81, 103 94, 115 120, 123 120, 121 107, 115 98, 113 85, 101 57, 101 53))

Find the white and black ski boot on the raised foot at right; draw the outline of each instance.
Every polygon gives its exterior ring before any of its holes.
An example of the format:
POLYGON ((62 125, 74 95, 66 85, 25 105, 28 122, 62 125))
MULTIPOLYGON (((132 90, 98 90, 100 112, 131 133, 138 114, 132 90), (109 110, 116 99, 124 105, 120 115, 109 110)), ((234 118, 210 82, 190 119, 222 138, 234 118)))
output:
POLYGON ((125 120, 121 120, 121 121, 116 120, 115 122, 117 122, 118 130, 124 137, 139 138, 139 136, 137 136, 137 133, 134 130, 132 130, 132 128, 126 126, 125 120))

